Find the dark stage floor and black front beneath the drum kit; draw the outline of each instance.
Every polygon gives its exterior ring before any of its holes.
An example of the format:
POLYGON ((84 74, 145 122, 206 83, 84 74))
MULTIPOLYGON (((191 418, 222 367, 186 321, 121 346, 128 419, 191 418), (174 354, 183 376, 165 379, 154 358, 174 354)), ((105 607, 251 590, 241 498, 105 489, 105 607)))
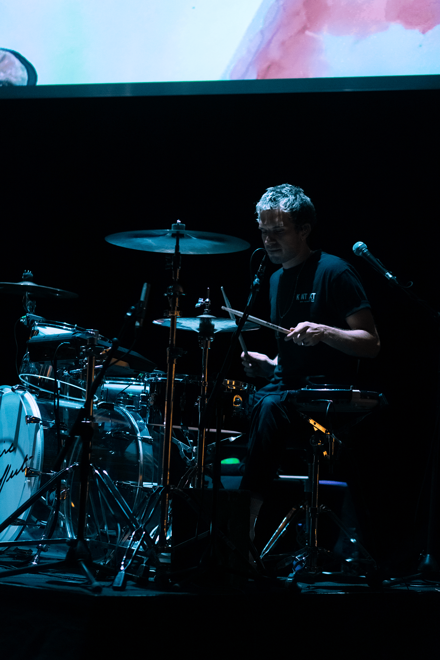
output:
POLYGON ((249 581, 243 589, 173 585, 124 591, 102 581, 92 593, 73 572, 0 579, 2 657, 73 660, 102 657, 434 657, 440 591, 411 582, 375 591, 365 579, 321 575, 295 593, 249 581), (409 657, 409 655, 404 655, 409 657))

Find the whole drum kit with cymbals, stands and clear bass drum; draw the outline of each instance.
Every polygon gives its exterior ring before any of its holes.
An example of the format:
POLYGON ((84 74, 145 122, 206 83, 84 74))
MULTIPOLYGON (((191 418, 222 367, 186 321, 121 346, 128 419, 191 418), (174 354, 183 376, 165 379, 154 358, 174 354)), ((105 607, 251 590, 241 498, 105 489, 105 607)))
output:
MULTIPOLYGON (((170 310, 154 321, 170 333, 166 373, 135 352, 134 344, 122 348, 96 330, 36 315, 37 298, 77 294, 40 286, 30 271, 21 282, 0 282, 0 294, 24 294, 26 314, 20 321, 30 334, 20 382, 0 388, 0 549, 36 545, 33 562, 24 570, 38 570, 42 551, 69 540, 69 565, 72 557, 79 562, 93 588, 92 563, 112 565, 114 572, 124 554, 121 583, 127 552, 129 563, 137 555, 141 566, 161 568, 170 545, 170 489, 177 486, 170 479, 172 445, 181 461, 181 484, 204 488, 206 475, 214 479, 215 451, 241 435, 253 407, 253 385, 226 378, 224 370, 221 381, 208 377, 210 343, 216 333, 234 333, 244 345, 241 332, 259 327, 246 319, 211 315, 209 290, 197 304, 202 314, 179 315, 181 254, 231 253, 249 248, 247 242, 189 232, 179 221, 169 231, 123 232, 106 240, 123 248, 172 253, 173 283, 166 292, 170 310), (200 376, 175 373, 185 353, 175 345, 177 329, 199 336, 200 376), (214 406, 208 407, 210 399, 218 398, 216 391, 222 399, 220 428, 211 423, 214 406), (208 445, 212 432, 217 432, 216 444, 208 445), (65 539, 54 539, 55 529, 65 539)), ((254 298, 259 277, 253 282, 254 298)), ((144 285, 134 313, 133 308, 127 313, 138 331, 148 291, 144 285)))

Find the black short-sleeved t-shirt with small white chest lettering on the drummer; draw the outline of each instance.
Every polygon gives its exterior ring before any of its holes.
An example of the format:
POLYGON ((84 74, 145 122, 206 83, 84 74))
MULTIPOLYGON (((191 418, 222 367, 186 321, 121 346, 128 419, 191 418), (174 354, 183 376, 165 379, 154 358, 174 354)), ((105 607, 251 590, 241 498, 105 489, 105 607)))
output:
MULTIPOLYGON (((350 329, 346 317, 369 309, 359 275, 344 259, 317 250, 298 266, 280 268, 270 278, 270 320, 291 328, 301 321, 350 329)), ((356 374, 358 358, 320 342, 303 347, 277 336, 278 366, 272 382, 297 387, 304 376, 325 376, 346 383, 356 374)), ((311 378, 313 381, 313 378, 311 378)))

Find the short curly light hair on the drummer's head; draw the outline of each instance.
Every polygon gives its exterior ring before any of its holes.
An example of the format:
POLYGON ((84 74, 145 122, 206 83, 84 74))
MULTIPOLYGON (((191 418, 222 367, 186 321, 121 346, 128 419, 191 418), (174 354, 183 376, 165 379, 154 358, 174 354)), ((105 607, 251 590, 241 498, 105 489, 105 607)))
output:
POLYGON ((260 218, 261 211, 269 211, 269 209, 280 209, 280 211, 288 213, 292 222, 298 227, 308 223, 313 228, 317 222, 315 207, 309 197, 304 194, 302 188, 290 183, 274 185, 267 189, 257 203, 258 218, 260 218))

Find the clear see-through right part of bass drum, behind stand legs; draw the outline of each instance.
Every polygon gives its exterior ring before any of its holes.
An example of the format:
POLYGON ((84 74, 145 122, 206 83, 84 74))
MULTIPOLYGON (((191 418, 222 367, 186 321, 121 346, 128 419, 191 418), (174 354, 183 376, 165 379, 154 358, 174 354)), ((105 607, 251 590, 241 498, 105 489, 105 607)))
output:
MULTIPOLYGON (((91 463, 106 471, 136 516, 150 489, 157 485, 152 480, 153 441, 148 428, 139 413, 111 403, 101 403, 94 409, 94 424, 91 463)), ((71 465, 80 461, 81 447, 78 438, 67 456, 67 463, 71 465)), ((68 492, 63 510, 65 525, 67 535, 75 537, 78 526, 79 470, 69 474, 65 483, 68 492)), ((88 495, 86 538, 96 541, 90 550, 97 560, 106 554, 109 543, 117 545, 118 537, 125 527, 125 518, 119 513, 117 504, 96 472, 91 474, 88 495)), ((119 543, 121 541, 123 539, 119 537, 119 543)))

